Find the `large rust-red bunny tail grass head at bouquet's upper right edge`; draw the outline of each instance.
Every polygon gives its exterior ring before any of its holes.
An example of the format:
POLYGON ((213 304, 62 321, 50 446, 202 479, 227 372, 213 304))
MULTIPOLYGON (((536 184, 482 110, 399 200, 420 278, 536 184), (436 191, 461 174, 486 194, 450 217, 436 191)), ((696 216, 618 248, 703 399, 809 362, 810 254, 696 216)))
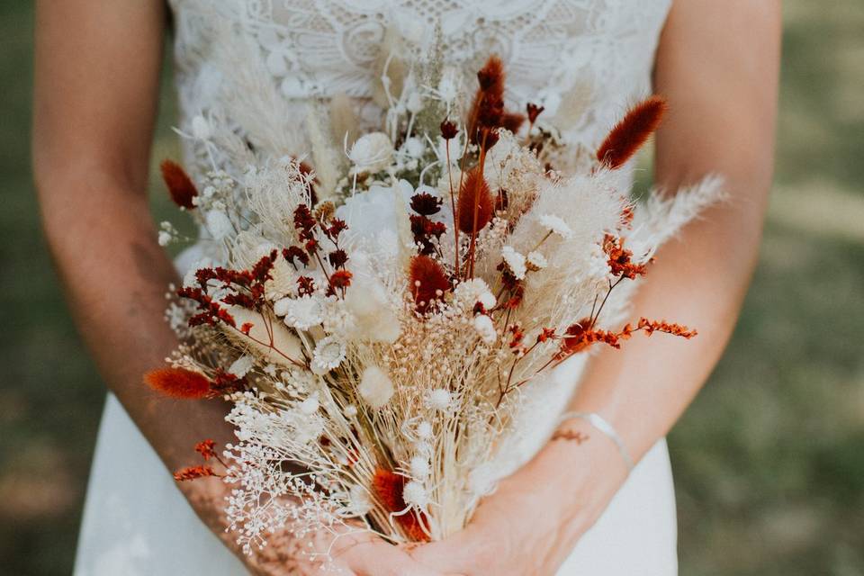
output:
POLYGON ((609 132, 597 150, 597 159, 613 170, 624 166, 657 130, 667 107, 661 96, 651 96, 636 104, 609 132))

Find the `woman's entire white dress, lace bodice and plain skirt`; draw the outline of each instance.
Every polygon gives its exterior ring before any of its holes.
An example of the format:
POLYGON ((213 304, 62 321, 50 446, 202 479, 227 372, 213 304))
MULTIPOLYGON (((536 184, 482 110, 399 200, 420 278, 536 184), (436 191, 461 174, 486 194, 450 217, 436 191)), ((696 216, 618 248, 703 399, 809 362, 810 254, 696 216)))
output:
MULTIPOLYGON (((444 60, 470 78, 491 54, 508 71, 512 108, 545 106, 543 117, 573 143, 594 147, 626 110, 650 92, 654 51, 671 0, 171 0, 181 129, 201 135, 214 114, 237 130, 266 117, 283 153, 302 154, 297 129, 311 101, 336 94, 375 125, 375 70, 398 34, 418 56, 443 46, 444 60), (442 41, 437 44, 437 38, 442 41), (226 67, 259 67, 267 100, 229 86, 226 67), (271 82, 272 80, 272 82, 271 82), (564 120, 566 119, 566 121, 564 120)), ((236 82, 236 80, 235 80, 236 82)), ((189 140, 199 171, 219 163, 189 140)), ((230 169, 230 166, 221 166, 230 169)), ((561 385, 537 399, 527 418, 536 434, 510 446, 513 469, 542 446, 581 365, 556 374, 561 385)), ((514 521, 524 521, 514 519, 514 521)), ((598 523, 582 537, 562 576, 677 574, 676 517, 665 442, 645 455, 598 523)), ((109 395, 96 446, 78 545, 76 576, 245 574, 202 526, 157 455, 109 395)))

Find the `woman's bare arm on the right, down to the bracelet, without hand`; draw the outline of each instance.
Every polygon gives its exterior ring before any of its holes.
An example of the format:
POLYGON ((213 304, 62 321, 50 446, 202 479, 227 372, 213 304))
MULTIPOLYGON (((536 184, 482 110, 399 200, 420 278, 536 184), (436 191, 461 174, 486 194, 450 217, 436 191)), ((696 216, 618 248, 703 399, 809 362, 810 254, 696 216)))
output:
POLYGON ((696 0, 676 4, 663 31, 654 80, 670 113, 656 180, 674 192, 716 173, 727 200, 662 247, 633 305, 635 318, 680 322, 698 337, 634 338, 604 351, 573 400, 574 410, 608 419, 635 460, 707 380, 750 284, 773 170, 779 24, 776 3, 696 0), (730 43, 726 28, 745 40, 730 43))

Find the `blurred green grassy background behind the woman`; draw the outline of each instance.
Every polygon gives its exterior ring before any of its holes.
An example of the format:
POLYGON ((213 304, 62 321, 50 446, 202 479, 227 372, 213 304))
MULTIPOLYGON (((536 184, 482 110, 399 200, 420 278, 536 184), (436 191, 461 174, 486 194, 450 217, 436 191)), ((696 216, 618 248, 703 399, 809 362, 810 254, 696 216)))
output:
MULTIPOLYGON (((761 263, 670 439, 683 576, 864 575, 864 2, 784 4, 761 263)), ((0 7, 0 572, 48 576, 71 571, 104 389, 40 236, 31 12, 0 7)), ((165 77, 155 158, 176 155, 165 77)))

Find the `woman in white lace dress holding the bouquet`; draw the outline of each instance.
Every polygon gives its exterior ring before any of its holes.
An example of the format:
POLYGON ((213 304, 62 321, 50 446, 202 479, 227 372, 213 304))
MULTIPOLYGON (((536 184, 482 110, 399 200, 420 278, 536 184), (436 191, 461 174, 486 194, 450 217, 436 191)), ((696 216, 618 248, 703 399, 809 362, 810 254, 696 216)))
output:
POLYGON ((302 154, 299 127, 313 99, 347 97, 363 121, 378 121, 375 85, 394 33, 417 55, 439 38, 446 61, 466 77, 500 54, 512 103, 541 103, 573 143, 596 146, 635 98, 666 96, 671 113, 657 135, 655 180, 676 189, 718 172, 730 200, 662 249, 635 315, 669 316, 702 336, 686 345, 635 340, 624 353, 596 356, 581 377, 559 374, 563 392, 537 416, 537 428, 557 422, 587 441, 534 443, 527 463, 462 533, 413 548, 343 538, 336 558, 342 573, 374 576, 676 574, 663 438, 722 353, 756 259, 772 170, 779 2, 169 4, 38 3, 34 166, 42 216, 78 327, 112 392, 75 574, 302 574, 317 569, 303 551, 329 545, 323 535, 276 535, 255 556, 238 554, 221 516, 224 486, 178 490, 168 473, 189 463, 201 438, 229 441, 226 407, 157 398, 140 383, 175 346, 162 315, 177 273, 157 245, 145 194, 168 22, 186 163, 198 170, 206 169, 211 114, 244 130, 244 86, 227 85, 225 54, 266 67, 280 94, 275 110, 287 112, 267 120, 294 127, 283 154, 302 154), (560 420, 563 412, 581 416, 560 420))

